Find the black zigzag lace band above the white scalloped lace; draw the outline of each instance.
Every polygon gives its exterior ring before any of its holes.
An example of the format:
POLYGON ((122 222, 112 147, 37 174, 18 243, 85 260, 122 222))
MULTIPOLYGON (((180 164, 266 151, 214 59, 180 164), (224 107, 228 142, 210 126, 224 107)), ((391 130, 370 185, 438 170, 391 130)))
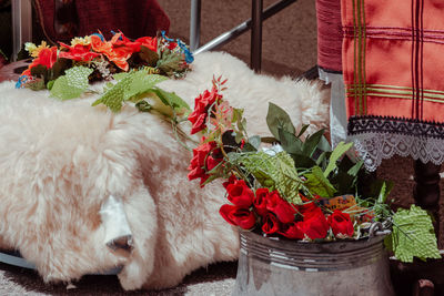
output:
POLYGON ((444 140, 444 123, 400 119, 391 116, 351 116, 349 119, 349 135, 361 133, 392 133, 420 137, 444 140))

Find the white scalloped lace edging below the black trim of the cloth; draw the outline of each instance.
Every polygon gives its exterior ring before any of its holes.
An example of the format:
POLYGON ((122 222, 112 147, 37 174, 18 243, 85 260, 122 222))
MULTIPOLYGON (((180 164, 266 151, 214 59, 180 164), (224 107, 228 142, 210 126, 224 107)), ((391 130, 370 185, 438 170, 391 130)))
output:
POLYGON ((357 154, 371 172, 381 165, 382 160, 395 154, 435 165, 444 162, 444 139, 371 132, 352 135, 350 140, 354 142, 357 154))

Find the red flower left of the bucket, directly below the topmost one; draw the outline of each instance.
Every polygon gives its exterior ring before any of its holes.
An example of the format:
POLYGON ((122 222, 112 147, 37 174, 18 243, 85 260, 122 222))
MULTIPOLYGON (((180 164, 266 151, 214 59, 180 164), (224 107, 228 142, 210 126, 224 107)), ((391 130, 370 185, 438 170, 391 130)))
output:
MULTIPOLYGON (((203 141, 204 139, 202 139, 203 141)), ((210 177, 206 172, 214 169, 223 160, 223 157, 218 156, 220 150, 216 146, 218 144, 212 141, 193 149, 193 159, 188 167, 191 172, 188 174, 188 178, 191 181, 200 177, 202 187, 203 183, 210 177)))

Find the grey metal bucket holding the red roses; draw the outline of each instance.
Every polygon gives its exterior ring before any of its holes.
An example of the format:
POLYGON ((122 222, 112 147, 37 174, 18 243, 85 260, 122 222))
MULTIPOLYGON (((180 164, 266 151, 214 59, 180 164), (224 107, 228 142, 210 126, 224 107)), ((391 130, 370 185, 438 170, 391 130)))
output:
POLYGON ((383 236, 331 243, 241 232, 233 296, 394 295, 383 236))

